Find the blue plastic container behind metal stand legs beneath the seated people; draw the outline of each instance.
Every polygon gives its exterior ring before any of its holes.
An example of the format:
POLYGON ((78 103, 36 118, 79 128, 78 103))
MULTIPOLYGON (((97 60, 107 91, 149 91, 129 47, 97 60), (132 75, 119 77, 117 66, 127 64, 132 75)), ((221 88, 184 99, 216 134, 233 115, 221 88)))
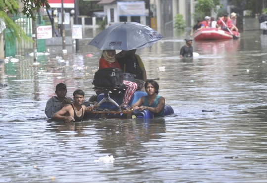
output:
MULTIPOLYGON (((136 91, 134 92, 133 97, 131 98, 130 102, 128 103, 128 105, 130 105, 130 107, 137 102, 137 100, 139 98, 141 98, 142 96, 147 95, 146 92, 141 92, 141 91, 136 91)), ((122 104, 123 101, 123 97, 124 97, 124 93, 109 93, 109 97, 112 98, 115 102, 117 102, 119 105, 122 104)), ((99 94, 98 98, 97 98, 97 102, 101 101, 104 98, 104 94, 99 94)), ((118 109, 118 107, 116 105, 114 105, 111 102, 104 102, 101 103, 100 108, 103 109, 118 109)))

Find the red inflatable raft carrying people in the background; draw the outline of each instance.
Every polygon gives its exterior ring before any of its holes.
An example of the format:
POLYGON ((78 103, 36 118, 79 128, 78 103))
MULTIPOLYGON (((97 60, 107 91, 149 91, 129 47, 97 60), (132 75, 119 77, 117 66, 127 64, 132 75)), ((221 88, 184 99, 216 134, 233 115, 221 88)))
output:
MULTIPOLYGON (((233 35, 240 38, 240 33, 232 31, 233 35)), ((233 39, 231 33, 217 28, 204 28, 195 32, 194 40, 225 40, 233 39)))

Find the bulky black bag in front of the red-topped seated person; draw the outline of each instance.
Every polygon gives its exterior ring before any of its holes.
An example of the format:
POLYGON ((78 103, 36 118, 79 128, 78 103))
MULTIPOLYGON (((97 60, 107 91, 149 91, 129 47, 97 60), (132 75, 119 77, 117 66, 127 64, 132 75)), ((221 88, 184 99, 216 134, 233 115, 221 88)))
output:
POLYGON ((115 67, 99 69, 94 74, 92 83, 95 87, 125 88, 123 84, 123 70, 115 67))

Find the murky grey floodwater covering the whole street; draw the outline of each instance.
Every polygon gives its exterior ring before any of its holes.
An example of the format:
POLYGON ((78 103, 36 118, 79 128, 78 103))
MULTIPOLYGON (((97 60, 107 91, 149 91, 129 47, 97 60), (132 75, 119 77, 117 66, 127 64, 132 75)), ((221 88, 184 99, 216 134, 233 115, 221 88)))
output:
POLYGON ((180 59, 185 35, 137 50, 148 78, 160 78, 160 95, 175 114, 158 119, 78 123, 48 120, 46 101, 56 84, 91 89, 100 50, 60 47, 1 63, 0 182, 174 183, 267 181, 267 36, 244 32, 239 40, 193 42, 194 59, 180 59), (73 50, 73 51, 72 51, 73 50), (72 53, 73 52, 73 53, 72 53), (92 54, 92 57, 86 57, 92 54), (158 69, 165 67, 165 70, 158 69), (213 111, 213 112, 202 112, 213 111), (114 161, 95 162, 106 155, 114 161), (52 178, 53 177, 53 178, 52 178))

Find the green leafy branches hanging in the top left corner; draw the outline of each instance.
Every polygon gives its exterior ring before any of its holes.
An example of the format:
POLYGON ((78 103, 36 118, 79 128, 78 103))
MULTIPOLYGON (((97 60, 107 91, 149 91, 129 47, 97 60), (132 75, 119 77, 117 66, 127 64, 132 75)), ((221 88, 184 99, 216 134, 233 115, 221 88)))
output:
POLYGON ((0 0, 1 21, 3 21, 6 27, 13 32, 14 36, 18 39, 18 41, 21 40, 20 38, 32 41, 26 36, 23 29, 21 29, 21 27, 19 27, 9 16, 12 14, 20 13, 19 3, 23 4, 21 13, 26 15, 27 17, 32 18, 34 21, 36 20, 36 10, 44 6, 46 6, 46 8, 50 8, 50 5, 48 4, 47 0, 0 0))

